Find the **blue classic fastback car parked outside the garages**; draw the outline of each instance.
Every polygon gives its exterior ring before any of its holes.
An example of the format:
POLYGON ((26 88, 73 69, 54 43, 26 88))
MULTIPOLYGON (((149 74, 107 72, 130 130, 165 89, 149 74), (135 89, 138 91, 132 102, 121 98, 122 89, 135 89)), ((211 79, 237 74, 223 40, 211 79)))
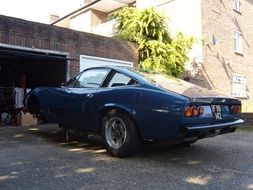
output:
POLYGON ((65 129, 101 134, 117 157, 135 154, 143 141, 191 144, 234 132, 244 122, 238 99, 144 75, 131 68, 90 68, 59 88, 34 89, 25 104, 31 114, 65 129))

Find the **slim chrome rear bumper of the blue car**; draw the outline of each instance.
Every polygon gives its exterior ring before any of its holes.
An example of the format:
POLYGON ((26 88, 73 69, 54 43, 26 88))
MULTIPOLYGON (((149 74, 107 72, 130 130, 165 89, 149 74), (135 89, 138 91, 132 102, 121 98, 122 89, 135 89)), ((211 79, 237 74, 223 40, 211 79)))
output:
POLYGON ((198 125, 198 126, 186 126, 185 128, 188 131, 199 131, 199 130, 209 130, 209 129, 216 129, 216 128, 225 128, 229 126, 239 125, 244 123, 244 120, 238 119, 231 122, 226 123, 218 123, 218 124, 210 124, 210 125, 198 125))

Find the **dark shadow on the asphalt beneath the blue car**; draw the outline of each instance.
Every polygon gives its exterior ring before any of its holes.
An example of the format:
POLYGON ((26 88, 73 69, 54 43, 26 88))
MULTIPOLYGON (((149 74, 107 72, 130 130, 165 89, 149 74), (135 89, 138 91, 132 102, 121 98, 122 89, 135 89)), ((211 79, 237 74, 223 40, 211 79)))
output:
MULTIPOLYGON (((89 136, 89 138, 86 138, 81 132, 70 131, 69 140, 66 141, 63 130, 56 125, 38 126, 38 128, 31 127, 28 128, 28 132, 47 143, 68 148, 75 152, 80 151, 80 153, 85 153, 94 151, 97 153, 100 151, 101 154, 110 157, 105 151, 102 139, 99 136, 89 136)), ((213 146, 203 146, 199 142, 191 146, 173 145, 171 143, 144 143, 140 153, 127 159, 157 160, 159 162, 179 160, 199 161, 203 155, 213 156, 213 159, 217 159, 215 154, 219 154, 218 151, 213 146)))

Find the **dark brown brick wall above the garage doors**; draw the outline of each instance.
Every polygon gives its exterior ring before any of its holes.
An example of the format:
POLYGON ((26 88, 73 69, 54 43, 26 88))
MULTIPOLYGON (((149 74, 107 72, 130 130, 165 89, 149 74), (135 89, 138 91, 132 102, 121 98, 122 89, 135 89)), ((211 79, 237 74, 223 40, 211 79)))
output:
POLYGON ((71 76, 79 71, 80 54, 131 62, 137 60, 133 43, 2 15, 0 43, 68 52, 71 76))

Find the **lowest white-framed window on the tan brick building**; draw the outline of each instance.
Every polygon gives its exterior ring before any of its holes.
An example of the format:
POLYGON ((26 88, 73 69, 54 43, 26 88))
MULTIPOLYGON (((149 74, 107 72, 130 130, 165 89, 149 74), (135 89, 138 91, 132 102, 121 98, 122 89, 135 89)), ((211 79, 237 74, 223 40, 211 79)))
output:
POLYGON ((246 76, 232 75, 232 96, 238 98, 246 98, 246 76))

